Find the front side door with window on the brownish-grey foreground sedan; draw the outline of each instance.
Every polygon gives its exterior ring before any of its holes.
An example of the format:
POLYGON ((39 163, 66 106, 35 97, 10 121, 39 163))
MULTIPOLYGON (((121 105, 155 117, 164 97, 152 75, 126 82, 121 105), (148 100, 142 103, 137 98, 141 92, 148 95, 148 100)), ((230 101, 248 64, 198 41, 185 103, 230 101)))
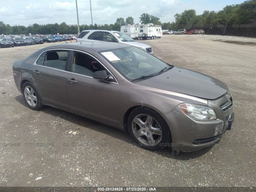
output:
POLYGON ((92 78, 107 69, 89 54, 74 52, 66 88, 70 109, 112 124, 118 124, 119 84, 92 78))

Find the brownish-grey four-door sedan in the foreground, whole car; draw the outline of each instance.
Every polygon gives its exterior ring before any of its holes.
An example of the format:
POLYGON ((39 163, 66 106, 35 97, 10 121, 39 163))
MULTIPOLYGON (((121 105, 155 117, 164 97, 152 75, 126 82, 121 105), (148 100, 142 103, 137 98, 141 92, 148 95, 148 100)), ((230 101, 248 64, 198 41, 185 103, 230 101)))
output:
POLYGON ((48 46, 14 62, 13 75, 29 108, 48 105, 128 131, 149 150, 200 150, 234 120, 225 83, 127 44, 48 46))

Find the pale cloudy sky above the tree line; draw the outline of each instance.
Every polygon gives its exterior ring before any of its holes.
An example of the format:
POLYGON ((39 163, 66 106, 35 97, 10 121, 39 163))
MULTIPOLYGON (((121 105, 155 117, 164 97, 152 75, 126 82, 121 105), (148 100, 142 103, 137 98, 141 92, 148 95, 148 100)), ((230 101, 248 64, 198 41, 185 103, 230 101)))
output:
MULTIPOLYGON (((222 10, 226 5, 244 0, 91 0, 93 24, 114 24, 117 18, 132 16, 139 23, 140 15, 148 13, 161 22, 174 21, 176 13, 195 9, 222 10)), ((91 24, 90 0, 77 0, 79 24, 91 24)), ((0 0, 0 21, 5 24, 77 24, 76 0, 0 0)))

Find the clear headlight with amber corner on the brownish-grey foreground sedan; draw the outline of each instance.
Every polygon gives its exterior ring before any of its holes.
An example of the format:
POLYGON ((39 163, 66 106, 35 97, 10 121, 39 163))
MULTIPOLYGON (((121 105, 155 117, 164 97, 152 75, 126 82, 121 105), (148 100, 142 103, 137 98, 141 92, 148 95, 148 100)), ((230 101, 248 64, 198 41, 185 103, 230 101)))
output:
POLYGON ((216 114, 210 107, 190 103, 180 104, 178 107, 184 114, 194 120, 206 121, 216 119, 216 114))

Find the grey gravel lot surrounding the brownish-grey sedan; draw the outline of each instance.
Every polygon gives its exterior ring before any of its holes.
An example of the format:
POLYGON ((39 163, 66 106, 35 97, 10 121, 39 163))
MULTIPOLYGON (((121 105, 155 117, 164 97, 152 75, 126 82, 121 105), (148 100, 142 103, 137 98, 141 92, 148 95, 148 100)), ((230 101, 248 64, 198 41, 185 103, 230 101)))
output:
POLYGON ((164 35, 139 42, 170 64, 229 86, 235 121, 220 142, 173 156, 168 148, 139 148, 127 132, 68 112, 30 110, 14 85, 12 64, 50 44, 1 48, 0 186, 256 186, 256 39, 164 35))

